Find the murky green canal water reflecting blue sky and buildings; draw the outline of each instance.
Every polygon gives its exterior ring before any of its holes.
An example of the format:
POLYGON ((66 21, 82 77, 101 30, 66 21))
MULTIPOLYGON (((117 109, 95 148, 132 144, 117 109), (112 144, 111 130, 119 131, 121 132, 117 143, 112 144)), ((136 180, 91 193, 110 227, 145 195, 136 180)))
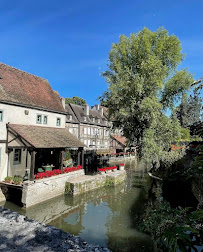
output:
MULTIPOLYGON (((135 160, 126 162, 126 170, 126 181, 116 187, 100 188, 74 197, 64 195, 28 209, 11 202, 2 206, 112 251, 152 252, 150 237, 139 232, 137 227, 149 200, 152 180, 135 160)), ((157 186, 154 193, 156 198, 161 197, 157 186)))

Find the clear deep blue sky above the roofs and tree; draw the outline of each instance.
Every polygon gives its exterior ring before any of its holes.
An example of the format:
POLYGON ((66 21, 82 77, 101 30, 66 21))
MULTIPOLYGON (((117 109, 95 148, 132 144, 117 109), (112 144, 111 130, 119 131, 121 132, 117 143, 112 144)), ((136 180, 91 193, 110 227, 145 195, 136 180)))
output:
POLYGON ((144 26, 164 26, 186 54, 181 67, 202 76, 202 0, 1 0, 0 61, 49 80, 60 96, 87 103, 107 89, 111 44, 144 26))

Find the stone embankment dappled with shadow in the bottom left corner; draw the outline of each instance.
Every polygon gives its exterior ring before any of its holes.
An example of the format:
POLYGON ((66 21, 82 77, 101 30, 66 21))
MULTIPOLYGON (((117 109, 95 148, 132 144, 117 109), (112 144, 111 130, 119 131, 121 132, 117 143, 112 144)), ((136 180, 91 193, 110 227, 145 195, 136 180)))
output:
POLYGON ((110 252, 52 226, 0 207, 0 251, 110 252))

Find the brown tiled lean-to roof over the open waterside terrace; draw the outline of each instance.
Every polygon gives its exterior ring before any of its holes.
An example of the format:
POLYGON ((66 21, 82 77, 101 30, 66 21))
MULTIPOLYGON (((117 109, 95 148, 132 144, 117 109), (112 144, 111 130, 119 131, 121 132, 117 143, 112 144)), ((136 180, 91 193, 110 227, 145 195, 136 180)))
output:
POLYGON ((85 146, 78 138, 64 128, 21 124, 8 124, 8 127, 35 148, 74 148, 85 146))

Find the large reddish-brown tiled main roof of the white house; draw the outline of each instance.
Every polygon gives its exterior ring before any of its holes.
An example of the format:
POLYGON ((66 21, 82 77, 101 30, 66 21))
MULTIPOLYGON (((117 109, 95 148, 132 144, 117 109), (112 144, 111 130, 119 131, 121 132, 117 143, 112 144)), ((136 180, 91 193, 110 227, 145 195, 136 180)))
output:
POLYGON ((0 63, 0 101, 65 112, 48 80, 3 63, 0 63))

